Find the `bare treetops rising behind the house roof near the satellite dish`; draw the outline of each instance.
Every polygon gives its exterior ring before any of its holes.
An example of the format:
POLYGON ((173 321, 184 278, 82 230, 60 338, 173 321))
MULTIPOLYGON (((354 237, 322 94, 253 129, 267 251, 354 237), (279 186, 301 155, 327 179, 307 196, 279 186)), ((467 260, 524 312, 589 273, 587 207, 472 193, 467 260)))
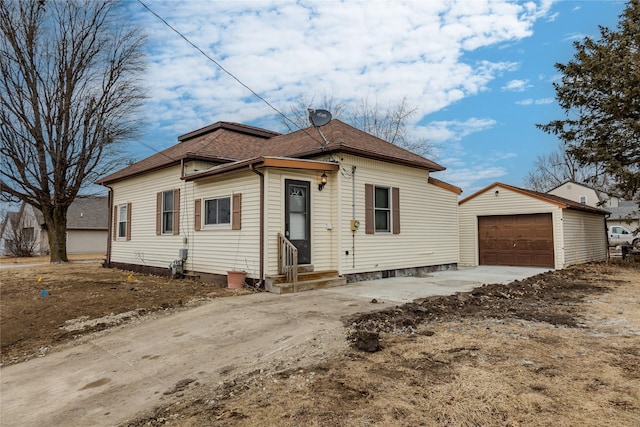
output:
POLYGON ((352 108, 326 94, 319 102, 314 101, 315 98, 306 101, 300 97, 289 106, 290 116, 282 120, 289 131, 309 126, 308 108, 322 108, 329 110, 334 118, 416 154, 425 156, 433 151, 433 146, 426 139, 414 138, 410 134, 407 123, 416 109, 408 105, 406 97, 389 107, 383 107, 377 101, 371 102, 368 96, 352 108))

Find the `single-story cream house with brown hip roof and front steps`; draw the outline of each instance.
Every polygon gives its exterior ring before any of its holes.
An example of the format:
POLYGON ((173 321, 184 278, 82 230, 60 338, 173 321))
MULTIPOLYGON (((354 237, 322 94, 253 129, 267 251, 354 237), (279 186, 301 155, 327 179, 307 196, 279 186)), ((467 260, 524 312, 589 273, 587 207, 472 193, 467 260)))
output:
POLYGON ((218 122, 98 181, 107 265, 220 283, 243 270, 273 292, 456 268, 461 190, 441 170, 340 120, 286 135, 218 122))

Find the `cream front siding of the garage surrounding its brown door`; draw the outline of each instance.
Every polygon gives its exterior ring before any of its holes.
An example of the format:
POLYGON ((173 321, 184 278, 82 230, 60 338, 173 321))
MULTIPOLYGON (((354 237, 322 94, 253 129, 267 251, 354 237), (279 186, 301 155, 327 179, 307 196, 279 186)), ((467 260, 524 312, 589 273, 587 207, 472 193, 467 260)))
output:
POLYGON ((493 187, 460 205, 460 265, 478 265, 478 217, 551 213, 553 222, 554 260, 556 268, 563 263, 562 209, 542 200, 528 197, 503 187, 493 187), (495 191, 498 191, 498 196, 495 191))

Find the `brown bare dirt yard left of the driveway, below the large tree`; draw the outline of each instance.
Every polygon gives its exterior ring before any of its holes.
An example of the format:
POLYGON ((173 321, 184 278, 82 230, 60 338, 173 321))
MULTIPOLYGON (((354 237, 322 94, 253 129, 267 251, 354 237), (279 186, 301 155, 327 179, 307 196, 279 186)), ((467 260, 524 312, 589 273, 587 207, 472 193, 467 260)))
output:
POLYGON ((30 264, 0 269, 2 366, 141 316, 250 292, 102 268, 96 256, 70 258, 69 264, 48 264, 48 257, 0 258, 0 266, 30 264))

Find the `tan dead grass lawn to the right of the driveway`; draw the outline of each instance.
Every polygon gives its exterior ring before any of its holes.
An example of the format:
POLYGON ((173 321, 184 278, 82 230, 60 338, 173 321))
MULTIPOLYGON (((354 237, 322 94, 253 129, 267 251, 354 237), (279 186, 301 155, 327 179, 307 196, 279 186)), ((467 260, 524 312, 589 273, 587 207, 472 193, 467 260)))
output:
POLYGON ((572 306, 573 327, 508 312, 430 320, 383 332, 382 351, 202 386, 130 425, 637 426, 640 274, 565 273, 555 286, 582 297, 555 304, 572 306))

